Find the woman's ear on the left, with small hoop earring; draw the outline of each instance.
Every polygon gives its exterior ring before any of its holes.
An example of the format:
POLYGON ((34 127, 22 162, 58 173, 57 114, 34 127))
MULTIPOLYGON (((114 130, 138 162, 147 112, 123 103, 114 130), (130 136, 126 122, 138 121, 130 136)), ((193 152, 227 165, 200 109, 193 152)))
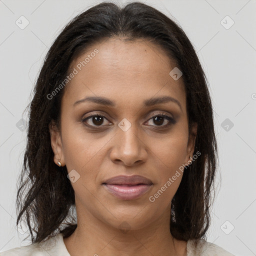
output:
POLYGON ((63 156, 61 135, 54 121, 51 121, 49 123, 49 132, 50 132, 50 144, 51 144, 52 151, 54 153, 53 160, 57 165, 58 165, 58 161, 60 161, 61 166, 64 166, 65 160, 63 156))

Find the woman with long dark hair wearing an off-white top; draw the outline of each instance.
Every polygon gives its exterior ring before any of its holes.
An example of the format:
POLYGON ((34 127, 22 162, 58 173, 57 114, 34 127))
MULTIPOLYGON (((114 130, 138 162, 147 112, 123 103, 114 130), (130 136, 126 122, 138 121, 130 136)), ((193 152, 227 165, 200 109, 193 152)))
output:
POLYGON ((2 256, 232 255, 205 240, 217 159, 206 78, 156 9, 103 2, 72 19, 27 136, 17 224, 32 243, 2 256))

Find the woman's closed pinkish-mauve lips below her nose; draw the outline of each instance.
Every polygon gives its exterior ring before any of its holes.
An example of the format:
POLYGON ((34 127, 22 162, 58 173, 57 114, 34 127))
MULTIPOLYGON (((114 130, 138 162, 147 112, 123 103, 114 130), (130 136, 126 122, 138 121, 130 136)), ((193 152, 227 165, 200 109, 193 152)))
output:
POLYGON ((145 194, 151 188, 152 182, 140 175, 120 175, 107 179, 102 184, 119 199, 130 200, 145 194))

